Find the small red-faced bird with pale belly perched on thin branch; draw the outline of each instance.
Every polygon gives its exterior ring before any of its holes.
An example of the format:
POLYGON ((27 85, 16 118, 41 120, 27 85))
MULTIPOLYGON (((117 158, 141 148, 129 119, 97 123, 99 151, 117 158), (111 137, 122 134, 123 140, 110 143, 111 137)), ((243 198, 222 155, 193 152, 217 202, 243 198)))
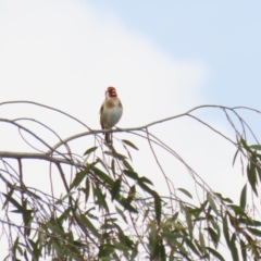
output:
MULTIPOLYGON (((117 98, 116 89, 112 86, 107 88, 105 100, 100 109, 100 124, 102 129, 112 129, 120 121, 123 113, 121 100, 117 98)), ((105 133, 105 141, 112 144, 112 135, 105 133)))

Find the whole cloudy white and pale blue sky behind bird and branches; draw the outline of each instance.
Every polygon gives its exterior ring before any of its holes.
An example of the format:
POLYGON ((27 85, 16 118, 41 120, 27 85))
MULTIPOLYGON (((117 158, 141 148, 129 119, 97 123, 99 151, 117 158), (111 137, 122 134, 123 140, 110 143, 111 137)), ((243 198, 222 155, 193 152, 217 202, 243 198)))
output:
MULTIPOLYGON (((122 128, 138 127, 200 104, 261 110, 260 12, 261 2, 253 0, 1 0, 0 102, 32 100, 55 107, 94 129, 100 128, 99 109, 110 85, 116 87, 124 107, 119 123, 122 128)), ((32 105, 0 105, 0 115, 39 119, 63 138, 86 130, 32 105)), ((221 112, 204 109, 198 115, 233 137, 221 112)), ((260 132, 260 119, 245 115, 260 132)), ((13 127, 0 124, 1 150, 32 151, 13 127)), ((42 128, 24 124, 50 144, 57 142, 42 128)), ((189 119, 158 124, 150 130, 177 151, 214 191, 238 199, 245 179, 239 165, 232 167, 234 147, 189 119)), ((136 170, 149 173, 156 187, 164 191, 148 145, 125 133, 117 137, 140 147, 134 153, 136 170)), ((88 138, 72 144, 79 154, 88 146, 88 138)), ((184 166, 160 149, 157 153, 175 186, 192 190, 184 166)), ((33 186, 48 184, 48 177, 35 174, 39 165, 27 162, 25 170, 33 186)))

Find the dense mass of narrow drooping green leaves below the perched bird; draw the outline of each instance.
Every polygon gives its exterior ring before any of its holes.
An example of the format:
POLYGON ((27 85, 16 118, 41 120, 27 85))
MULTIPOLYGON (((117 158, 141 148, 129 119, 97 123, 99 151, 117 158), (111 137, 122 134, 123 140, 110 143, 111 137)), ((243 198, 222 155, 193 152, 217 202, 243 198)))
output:
POLYGON ((247 163, 239 204, 206 184, 200 197, 171 186, 169 197, 161 195, 150 175, 136 170, 129 149, 141 152, 126 139, 117 147, 96 144, 82 162, 65 156, 72 178, 64 177, 64 162, 53 163, 64 185, 59 198, 27 186, 22 174, 1 176, 2 209, 8 217, 20 217, 9 224, 16 229, 7 260, 224 261, 224 247, 229 260, 260 260, 261 222, 249 208, 249 194, 259 196, 261 146, 240 137, 236 147, 234 161, 240 154, 247 163))

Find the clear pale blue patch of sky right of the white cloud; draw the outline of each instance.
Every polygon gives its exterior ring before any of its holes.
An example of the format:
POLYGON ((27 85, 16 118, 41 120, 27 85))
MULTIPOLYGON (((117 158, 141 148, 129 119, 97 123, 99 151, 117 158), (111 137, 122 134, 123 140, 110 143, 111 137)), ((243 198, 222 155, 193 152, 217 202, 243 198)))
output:
MULTIPOLYGON (((261 1, 87 1, 175 60, 210 69, 204 103, 261 109, 261 1)), ((189 75, 188 75, 189 77, 189 75)))

